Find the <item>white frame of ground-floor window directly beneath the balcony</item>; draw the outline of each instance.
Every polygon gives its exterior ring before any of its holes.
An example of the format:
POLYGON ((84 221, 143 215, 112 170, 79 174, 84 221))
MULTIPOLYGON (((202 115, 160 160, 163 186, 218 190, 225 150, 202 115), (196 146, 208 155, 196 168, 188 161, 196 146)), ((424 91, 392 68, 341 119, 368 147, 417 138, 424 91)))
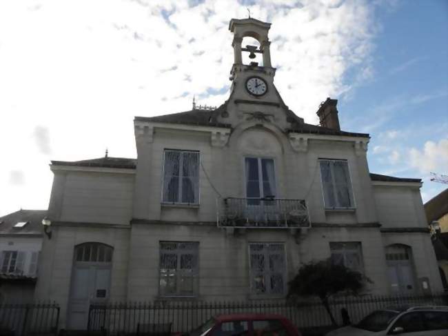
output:
MULTIPOLYGON (((249 255, 249 281, 250 281, 250 295, 252 297, 259 297, 259 298, 264 298, 264 297, 285 297, 286 292, 287 292, 287 248, 286 248, 286 242, 285 241, 250 241, 249 244, 247 244, 247 253, 249 255), (282 270, 282 276, 283 276, 283 290, 282 293, 271 293, 270 292, 270 288, 269 285, 271 284, 271 280, 268 279, 269 283, 265 284, 265 288, 269 289, 266 290, 265 293, 256 293, 255 288, 254 288, 254 271, 252 270, 252 265, 251 265, 251 257, 252 254, 250 253, 250 247, 252 244, 263 244, 264 246, 269 246, 269 245, 276 245, 276 244, 281 244, 283 246, 283 263, 284 263, 284 268, 282 270)), ((266 254, 263 253, 263 255, 265 256, 266 254)), ((270 254, 268 254, 269 256, 270 254)), ((269 258, 267 259, 267 262, 269 262, 269 258)), ((267 268, 269 268, 269 264, 267 264, 265 262, 265 266, 267 266, 267 268)), ((263 277, 267 277, 269 275, 271 275, 272 271, 271 270, 265 270, 263 269, 263 277)))

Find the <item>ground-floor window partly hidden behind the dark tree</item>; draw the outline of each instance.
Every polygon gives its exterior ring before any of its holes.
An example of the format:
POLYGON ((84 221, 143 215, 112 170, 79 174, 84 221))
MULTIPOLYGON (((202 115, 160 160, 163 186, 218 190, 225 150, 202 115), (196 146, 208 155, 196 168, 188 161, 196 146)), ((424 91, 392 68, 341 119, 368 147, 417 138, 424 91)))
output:
POLYGON ((360 242, 330 242, 329 249, 332 253, 333 264, 344 265, 351 270, 364 273, 363 253, 360 242))

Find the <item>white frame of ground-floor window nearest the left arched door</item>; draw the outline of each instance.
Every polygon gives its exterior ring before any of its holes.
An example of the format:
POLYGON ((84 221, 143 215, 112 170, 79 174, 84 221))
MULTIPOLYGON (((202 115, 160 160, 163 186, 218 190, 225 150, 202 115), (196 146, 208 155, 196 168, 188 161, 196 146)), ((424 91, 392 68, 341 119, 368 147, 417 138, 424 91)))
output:
MULTIPOLYGON (((187 251, 187 250, 185 250, 187 251)), ((198 297, 199 296, 199 241, 159 241, 159 297, 174 297, 174 298, 179 298, 179 297, 198 297), (176 273, 175 273, 175 277, 176 277, 176 290, 175 293, 164 293, 166 292, 166 290, 162 290, 161 288, 161 279, 162 279, 162 274, 161 274, 161 257, 162 257, 162 248, 161 245, 163 243, 168 243, 168 244, 176 244, 176 249, 175 249, 175 254, 176 254, 176 273), (181 284, 181 279, 182 279, 182 272, 181 272, 181 268, 180 268, 180 264, 181 264, 181 255, 187 255, 189 253, 181 253, 181 251, 179 250, 179 244, 195 244, 196 246, 196 250, 194 250, 194 255, 196 255, 196 268, 192 268, 193 272, 192 272, 192 279, 193 279, 193 293, 191 295, 182 293, 180 290, 180 284, 181 284)))

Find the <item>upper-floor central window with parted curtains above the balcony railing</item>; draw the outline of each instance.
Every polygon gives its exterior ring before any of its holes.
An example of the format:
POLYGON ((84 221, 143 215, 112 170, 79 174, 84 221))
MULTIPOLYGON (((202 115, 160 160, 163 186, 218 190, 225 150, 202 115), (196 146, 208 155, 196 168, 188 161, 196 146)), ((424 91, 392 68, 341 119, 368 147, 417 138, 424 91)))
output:
POLYGON ((245 158, 247 204, 258 205, 260 198, 276 197, 273 159, 245 158))

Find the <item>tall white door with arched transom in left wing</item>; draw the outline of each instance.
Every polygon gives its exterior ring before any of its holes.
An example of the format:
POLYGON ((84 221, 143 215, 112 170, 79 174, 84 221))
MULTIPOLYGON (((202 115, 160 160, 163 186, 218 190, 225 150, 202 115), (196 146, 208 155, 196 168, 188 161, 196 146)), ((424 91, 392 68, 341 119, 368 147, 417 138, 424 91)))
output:
POLYGON ((110 297, 112 248, 88 243, 75 248, 67 328, 85 330, 90 304, 110 297))

